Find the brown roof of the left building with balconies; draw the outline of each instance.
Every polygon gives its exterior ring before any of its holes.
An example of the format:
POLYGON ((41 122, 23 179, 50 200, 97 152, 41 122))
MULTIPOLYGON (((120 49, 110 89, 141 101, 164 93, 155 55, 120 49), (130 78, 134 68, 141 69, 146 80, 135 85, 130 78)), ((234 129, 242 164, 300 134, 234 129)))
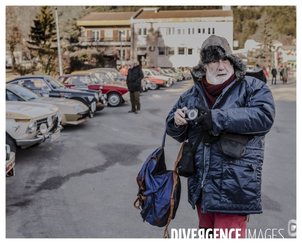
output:
POLYGON ((77 21, 78 26, 82 25, 130 25, 130 18, 135 12, 100 12, 89 13, 77 21))

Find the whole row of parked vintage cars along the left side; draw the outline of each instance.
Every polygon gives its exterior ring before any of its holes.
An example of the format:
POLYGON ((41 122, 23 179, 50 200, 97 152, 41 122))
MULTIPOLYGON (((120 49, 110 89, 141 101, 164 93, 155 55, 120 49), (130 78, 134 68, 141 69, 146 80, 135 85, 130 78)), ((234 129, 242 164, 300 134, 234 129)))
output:
MULTIPOLYGON (((169 69, 143 69, 141 91, 170 87, 185 76, 169 69), (170 73, 170 74, 168 74, 170 73)), ((112 68, 75 71, 57 79, 22 76, 6 84, 6 175, 15 175, 17 148, 50 143, 65 125, 79 125, 108 106, 130 100, 127 77, 112 68)))

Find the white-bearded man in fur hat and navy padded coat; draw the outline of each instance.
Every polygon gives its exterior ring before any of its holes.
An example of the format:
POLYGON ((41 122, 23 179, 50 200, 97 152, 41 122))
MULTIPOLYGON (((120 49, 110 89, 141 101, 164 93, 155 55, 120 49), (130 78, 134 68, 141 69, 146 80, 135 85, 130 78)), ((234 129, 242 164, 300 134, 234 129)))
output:
POLYGON ((193 68, 194 86, 180 96, 166 120, 167 134, 178 142, 188 139, 192 146, 205 132, 194 154, 194 173, 188 177, 188 201, 197 208, 199 228, 205 232, 219 228, 224 234, 226 229, 232 238, 236 233, 231 229, 241 229, 240 238, 244 238, 248 215, 262 213, 264 136, 275 117, 268 86, 245 74, 245 65, 232 54, 228 41, 211 35, 193 68), (242 82, 228 94, 239 77, 242 82), (219 104, 225 95, 227 99, 219 104), (184 111, 194 108, 199 116, 186 120, 184 111), (220 136, 230 133, 248 135, 245 154, 239 158, 219 147, 220 136))

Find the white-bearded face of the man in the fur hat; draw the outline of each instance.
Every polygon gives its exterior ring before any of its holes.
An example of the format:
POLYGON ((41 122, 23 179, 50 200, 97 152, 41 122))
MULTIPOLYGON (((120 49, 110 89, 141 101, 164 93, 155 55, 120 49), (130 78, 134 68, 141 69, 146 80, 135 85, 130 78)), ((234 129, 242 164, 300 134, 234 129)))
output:
POLYGON ((205 68, 206 77, 214 84, 222 84, 234 74, 234 68, 229 59, 219 59, 208 63, 205 68))

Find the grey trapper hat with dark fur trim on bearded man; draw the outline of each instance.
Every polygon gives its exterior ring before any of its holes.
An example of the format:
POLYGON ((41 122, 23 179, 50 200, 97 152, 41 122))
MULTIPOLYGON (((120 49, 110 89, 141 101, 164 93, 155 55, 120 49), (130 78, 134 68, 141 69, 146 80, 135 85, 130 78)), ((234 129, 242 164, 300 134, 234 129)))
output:
POLYGON ((223 37, 211 35, 202 43, 200 60, 198 65, 193 67, 193 76, 201 80, 202 76, 205 76, 204 65, 221 58, 228 58, 231 61, 236 77, 246 74, 246 66, 240 57, 232 53, 229 42, 223 37))

